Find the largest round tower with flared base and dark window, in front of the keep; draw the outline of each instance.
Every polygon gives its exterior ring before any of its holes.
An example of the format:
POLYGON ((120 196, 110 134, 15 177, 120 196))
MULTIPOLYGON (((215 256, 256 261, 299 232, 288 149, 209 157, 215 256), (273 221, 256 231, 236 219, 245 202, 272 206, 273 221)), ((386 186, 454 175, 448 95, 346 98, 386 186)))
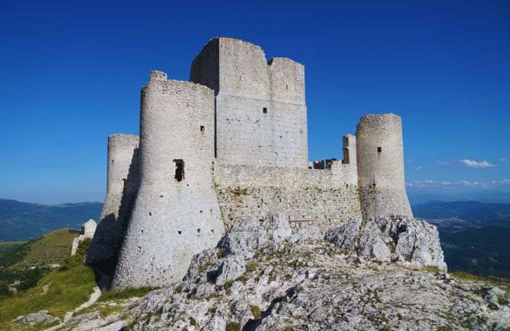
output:
POLYGON ((181 281, 223 232, 212 187, 214 92, 151 72, 142 88, 139 190, 113 288, 181 281))

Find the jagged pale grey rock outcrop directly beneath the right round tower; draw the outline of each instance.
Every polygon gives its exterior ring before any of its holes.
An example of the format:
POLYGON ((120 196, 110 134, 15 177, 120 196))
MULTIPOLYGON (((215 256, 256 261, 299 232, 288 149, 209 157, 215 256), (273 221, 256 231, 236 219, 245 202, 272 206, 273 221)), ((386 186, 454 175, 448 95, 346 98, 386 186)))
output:
POLYGON ((377 261, 398 261, 447 270, 434 225, 404 216, 354 219, 330 229, 325 239, 377 261))

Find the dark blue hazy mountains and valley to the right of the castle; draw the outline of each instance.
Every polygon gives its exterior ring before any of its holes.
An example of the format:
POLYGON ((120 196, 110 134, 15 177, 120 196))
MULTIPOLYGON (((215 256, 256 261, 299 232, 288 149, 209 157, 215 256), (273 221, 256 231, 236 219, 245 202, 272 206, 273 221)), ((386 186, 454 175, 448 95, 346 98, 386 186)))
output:
POLYGON ((510 203, 429 201, 413 212, 438 227, 450 270, 510 279, 510 203))

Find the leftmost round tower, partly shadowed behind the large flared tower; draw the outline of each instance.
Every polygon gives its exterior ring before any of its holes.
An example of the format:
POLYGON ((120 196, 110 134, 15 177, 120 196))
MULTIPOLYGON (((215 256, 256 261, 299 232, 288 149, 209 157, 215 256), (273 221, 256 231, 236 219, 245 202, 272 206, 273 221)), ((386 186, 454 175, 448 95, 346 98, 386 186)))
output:
POLYGON ((108 274, 114 271, 119 243, 136 194, 139 137, 112 134, 108 137, 106 199, 87 263, 108 274))

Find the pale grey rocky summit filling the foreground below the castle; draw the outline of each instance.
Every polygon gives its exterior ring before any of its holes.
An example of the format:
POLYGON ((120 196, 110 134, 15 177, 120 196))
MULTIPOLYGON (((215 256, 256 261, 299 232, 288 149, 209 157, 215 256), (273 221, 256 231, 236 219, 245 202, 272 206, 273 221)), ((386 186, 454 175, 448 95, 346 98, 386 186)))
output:
POLYGON ((451 277, 433 225, 392 216, 320 232, 233 225, 183 281, 53 330, 509 330, 509 295, 451 277))

